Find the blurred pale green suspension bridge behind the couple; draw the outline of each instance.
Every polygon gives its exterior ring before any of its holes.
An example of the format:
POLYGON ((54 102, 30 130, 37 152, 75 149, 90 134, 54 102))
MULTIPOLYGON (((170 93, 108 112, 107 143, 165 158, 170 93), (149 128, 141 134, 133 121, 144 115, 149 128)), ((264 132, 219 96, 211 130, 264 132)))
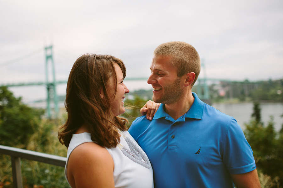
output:
MULTIPOLYGON (((18 82, 18 81, 14 81, 12 83, 4 83, 4 84, 0 83, 0 86, 7 86, 7 87, 45 86, 46 92, 47 92, 47 98, 46 98, 47 117, 51 118, 53 113, 55 114, 55 117, 56 117, 58 112, 59 112, 58 95, 57 95, 57 91, 56 91, 57 86, 59 84, 66 84, 67 80, 61 80, 61 81, 56 80, 55 66, 54 66, 54 61, 53 61, 53 45, 46 46, 43 50, 45 52, 45 81, 38 81, 38 82, 34 82, 34 81, 33 82, 26 82, 26 81, 18 82), (53 103, 53 105, 51 105, 52 103, 53 103)), ((27 58, 29 56, 32 56, 33 54, 34 53, 31 53, 29 55, 23 56, 22 58, 18 58, 18 59, 15 59, 13 61, 10 61, 10 62, 0 63, 0 69, 3 66, 9 65, 9 64, 14 63, 16 61, 19 61, 23 58, 27 58)), ((221 81, 221 80, 219 80, 219 79, 208 79, 206 77, 204 60, 202 60, 202 71, 203 71, 203 77, 198 78, 197 84, 196 84, 197 94, 198 94, 198 97, 201 100, 208 102, 210 100, 210 94, 209 94, 209 89, 208 89, 208 81, 221 81)), ((129 81, 145 80, 146 81, 147 77, 130 77, 130 78, 126 77, 125 80, 129 80, 129 81)), ((222 80, 222 81, 228 81, 228 80, 222 80)))

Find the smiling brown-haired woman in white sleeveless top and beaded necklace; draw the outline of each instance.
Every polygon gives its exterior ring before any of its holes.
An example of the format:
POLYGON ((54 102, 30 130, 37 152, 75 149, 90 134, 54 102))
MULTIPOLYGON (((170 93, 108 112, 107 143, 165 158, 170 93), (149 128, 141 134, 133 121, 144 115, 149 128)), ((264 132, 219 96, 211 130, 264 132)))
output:
POLYGON ((125 76, 122 60, 111 55, 85 54, 73 65, 68 119, 58 133, 68 148, 65 176, 72 188, 153 187, 151 164, 126 131, 127 120, 118 117, 129 92, 125 76))

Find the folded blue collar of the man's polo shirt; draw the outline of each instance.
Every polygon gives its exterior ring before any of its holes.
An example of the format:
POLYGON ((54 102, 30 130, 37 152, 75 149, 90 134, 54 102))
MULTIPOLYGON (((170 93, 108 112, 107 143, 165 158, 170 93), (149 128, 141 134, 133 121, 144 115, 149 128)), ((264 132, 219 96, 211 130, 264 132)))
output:
MULTIPOLYGON (((186 112, 185 118, 202 119, 204 103, 197 97, 196 93, 192 93, 192 95, 195 100, 191 105, 191 108, 188 110, 188 112, 186 112)), ((153 119, 159 119, 167 116, 169 115, 164 111, 164 104, 160 104, 160 107, 155 113, 153 119)))

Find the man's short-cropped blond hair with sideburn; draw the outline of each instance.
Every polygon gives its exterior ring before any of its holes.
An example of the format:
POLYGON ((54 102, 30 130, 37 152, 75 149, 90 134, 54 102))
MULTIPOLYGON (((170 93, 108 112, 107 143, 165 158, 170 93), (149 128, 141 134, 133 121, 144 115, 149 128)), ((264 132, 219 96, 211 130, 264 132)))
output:
POLYGON ((197 50, 186 42, 172 41, 160 44, 155 50, 154 55, 171 56, 172 64, 177 69, 177 76, 181 77, 189 72, 194 72, 196 78, 191 87, 197 81, 200 73, 201 62, 197 50))

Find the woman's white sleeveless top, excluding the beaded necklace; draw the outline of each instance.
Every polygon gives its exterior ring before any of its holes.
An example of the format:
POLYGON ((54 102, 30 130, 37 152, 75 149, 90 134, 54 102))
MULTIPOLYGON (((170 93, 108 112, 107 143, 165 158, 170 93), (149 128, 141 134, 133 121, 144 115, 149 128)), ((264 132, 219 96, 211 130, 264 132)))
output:
MULTIPOLYGON (((124 134, 130 138, 139 148, 140 146, 136 143, 134 138, 130 135, 128 131, 124 132, 124 134)), ((90 133, 80 133, 73 134, 72 139, 69 144, 68 153, 67 153, 67 162, 65 166, 65 177, 67 182, 67 167, 68 160, 72 151, 79 146, 80 144, 92 142, 90 133)), ((120 137, 120 144, 129 148, 125 139, 120 137)), ((115 182, 115 187, 133 187, 133 188, 153 188, 153 170, 151 168, 146 168, 127 156, 125 156, 121 149, 117 146, 116 148, 106 148, 109 154, 111 155, 114 161, 114 171, 113 177, 115 182)), ((141 148, 140 148, 141 149, 141 148)), ((142 149, 141 149, 142 150, 142 149)), ((145 152, 142 150, 145 154, 145 152)))

